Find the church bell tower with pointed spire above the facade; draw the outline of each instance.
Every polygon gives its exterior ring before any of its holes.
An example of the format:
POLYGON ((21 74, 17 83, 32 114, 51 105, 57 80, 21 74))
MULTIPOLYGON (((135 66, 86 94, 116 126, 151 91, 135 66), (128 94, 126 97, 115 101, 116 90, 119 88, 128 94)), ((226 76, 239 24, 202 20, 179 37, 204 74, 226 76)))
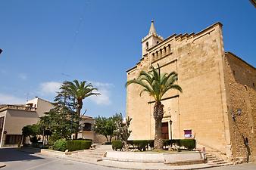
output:
POLYGON ((154 47, 163 40, 164 38, 158 36, 157 31, 155 30, 154 20, 151 20, 151 26, 148 35, 142 39, 142 57, 145 57, 145 54, 147 54, 149 48, 154 47))

